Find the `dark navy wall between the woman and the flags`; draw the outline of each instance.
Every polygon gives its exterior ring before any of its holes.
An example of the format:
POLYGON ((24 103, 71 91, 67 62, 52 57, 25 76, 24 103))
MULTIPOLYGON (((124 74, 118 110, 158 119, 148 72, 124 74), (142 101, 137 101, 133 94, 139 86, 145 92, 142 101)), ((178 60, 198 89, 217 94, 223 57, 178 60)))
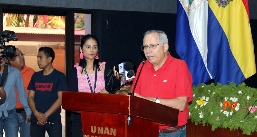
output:
POLYGON ((166 32, 170 54, 179 58, 175 51, 176 14, 101 10, 95 15, 100 61, 114 66, 129 58, 138 67, 145 58, 140 46, 143 45, 143 34, 148 30, 166 32))

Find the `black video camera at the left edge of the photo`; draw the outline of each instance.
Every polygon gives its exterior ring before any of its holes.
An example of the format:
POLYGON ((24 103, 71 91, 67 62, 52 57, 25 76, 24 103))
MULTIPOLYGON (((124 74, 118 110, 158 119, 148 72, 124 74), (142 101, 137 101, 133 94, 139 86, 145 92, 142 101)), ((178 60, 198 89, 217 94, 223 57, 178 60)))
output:
POLYGON ((5 45, 5 42, 9 42, 11 40, 17 41, 18 38, 15 35, 15 32, 10 30, 2 31, 2 36, 0 36, 0 49, 4 49, 4 51, 0 52, 2 53, 2 57, 14 57, 16 53, 15 46, 12 45, 5 45))

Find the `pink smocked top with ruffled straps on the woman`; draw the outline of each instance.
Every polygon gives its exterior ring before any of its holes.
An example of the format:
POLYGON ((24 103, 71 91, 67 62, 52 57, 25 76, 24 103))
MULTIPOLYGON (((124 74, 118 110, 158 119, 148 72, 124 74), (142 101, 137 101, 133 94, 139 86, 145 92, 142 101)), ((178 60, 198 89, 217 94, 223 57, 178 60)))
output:
MULTIPOLYGON (((101 70, 102 70, 104 64, 105 64, 105 62, 102 62, 100 64, 100 70, 97 72, 97 80, 96 80, 95 90, 94 90, 94 87, 95 87, 95 73, 88 75, 91 86, 92 86, 92 89, 93 89, 93 92, 95 91, 95 93, 99 93, 105 87, 104 74, 101 73, 101 70)), ((91 92, 89 84, 88 84, 88 80, 87 80, 87 75, 81 76, 80 71, 81 70, 84 71, 82 69, 82 67, 80 67, 78 63, 76 63, 76 65, 74 65, 74 67, 77 68, 79 92, 91 92)))

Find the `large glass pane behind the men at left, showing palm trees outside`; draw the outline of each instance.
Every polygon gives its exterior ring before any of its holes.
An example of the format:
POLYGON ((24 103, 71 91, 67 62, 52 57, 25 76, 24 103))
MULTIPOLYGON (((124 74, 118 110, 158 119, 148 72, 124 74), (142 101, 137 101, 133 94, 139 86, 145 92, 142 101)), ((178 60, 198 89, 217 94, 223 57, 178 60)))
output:
POLYGON ((3 30, 14 31, 18 41, 13 45, 24 54, 27 67, 40 71, 37 54, 40 47, 51 47, 55 52, 53 68, 65 74, 65 16, 3 13, 3 30))

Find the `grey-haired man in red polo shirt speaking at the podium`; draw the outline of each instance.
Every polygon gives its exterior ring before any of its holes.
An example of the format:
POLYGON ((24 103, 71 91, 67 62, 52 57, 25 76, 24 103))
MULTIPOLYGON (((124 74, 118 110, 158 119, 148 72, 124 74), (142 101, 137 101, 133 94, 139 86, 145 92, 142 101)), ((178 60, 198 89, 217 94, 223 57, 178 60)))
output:
MULTIPOLYGON (((135 96, 179 109, 178 127, 160 126, 159 137, 185 137, 188 102, 193 98, 192 76, 187 64, 170 56, 168 38, 163 31, 145 32, 141 49, 147 60, 137 81, 135 96)), ((138 72, 141 66, 142 63, 138 72)))

